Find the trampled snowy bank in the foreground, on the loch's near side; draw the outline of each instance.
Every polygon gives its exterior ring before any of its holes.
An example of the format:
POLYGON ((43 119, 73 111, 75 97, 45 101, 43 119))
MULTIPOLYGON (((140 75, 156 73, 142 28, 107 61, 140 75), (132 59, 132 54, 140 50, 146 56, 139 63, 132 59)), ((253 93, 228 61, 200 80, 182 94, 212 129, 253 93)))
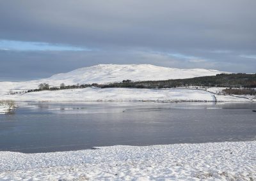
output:
POLYGON ((0 152, 0 180, 255 180, 256 141, 0 152))

